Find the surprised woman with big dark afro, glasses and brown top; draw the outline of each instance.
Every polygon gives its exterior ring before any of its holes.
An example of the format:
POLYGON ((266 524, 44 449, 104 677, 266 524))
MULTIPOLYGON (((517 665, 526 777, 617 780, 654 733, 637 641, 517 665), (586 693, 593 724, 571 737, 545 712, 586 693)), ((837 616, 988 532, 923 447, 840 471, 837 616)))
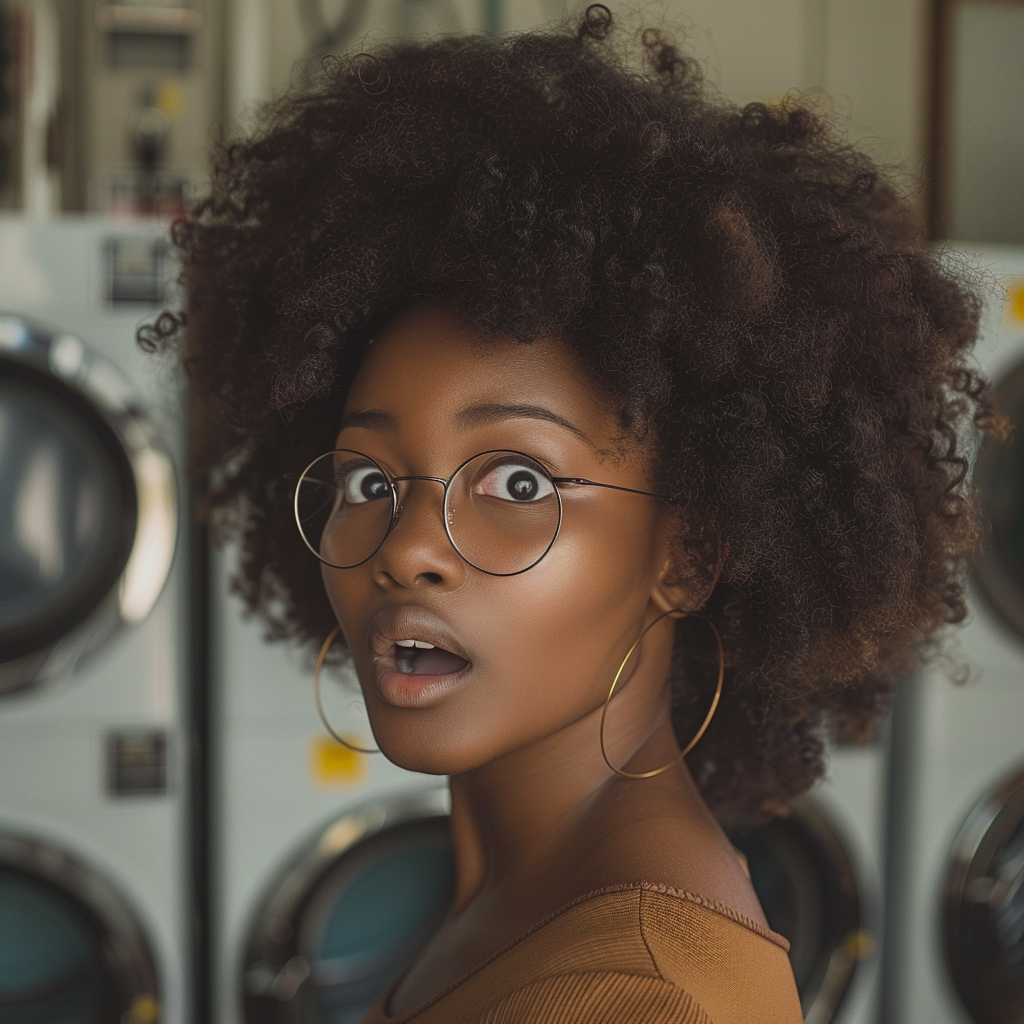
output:
POLYGON ((616 39, 332 59, 176 227, 242 592, 451 776, 455 902, 378 1024, 795 1024, 717 819, 965 614, 975 292, 820 117, 616 39))

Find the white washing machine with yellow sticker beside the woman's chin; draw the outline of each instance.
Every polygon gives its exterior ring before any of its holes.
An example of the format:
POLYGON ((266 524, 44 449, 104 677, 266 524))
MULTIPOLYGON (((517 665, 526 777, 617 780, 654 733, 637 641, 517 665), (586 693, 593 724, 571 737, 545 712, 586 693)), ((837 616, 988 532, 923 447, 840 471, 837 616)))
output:
MULTIPOLYGON (((446 781, 328 735, 310 659, 244 615, 232 564, 213 554, 212 1017, 357 1024, 451 905, 446 781)), ((372 748, 354 675, 322 686, 333 727, 372 748)))

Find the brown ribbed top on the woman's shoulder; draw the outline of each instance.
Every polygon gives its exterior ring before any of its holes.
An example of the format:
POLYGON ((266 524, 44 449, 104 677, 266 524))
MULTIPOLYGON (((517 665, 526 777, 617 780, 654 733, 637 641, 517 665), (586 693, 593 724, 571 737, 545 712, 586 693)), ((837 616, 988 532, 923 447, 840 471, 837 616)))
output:
MULTIPOLYGON (((587 893, 403 1017, 364 1024, 802 1024, 781 935, 672 886, 587 893)), ((397 982, 395 983, 395 985, 397 982)))

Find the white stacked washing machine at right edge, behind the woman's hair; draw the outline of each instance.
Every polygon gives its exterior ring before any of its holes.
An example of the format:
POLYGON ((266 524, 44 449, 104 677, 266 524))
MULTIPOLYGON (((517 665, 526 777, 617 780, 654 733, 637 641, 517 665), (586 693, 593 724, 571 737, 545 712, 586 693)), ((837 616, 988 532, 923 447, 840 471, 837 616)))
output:
POLYGON ((974 461, 987 525, 952 659, 893 718, 892 1024, 1024 1021, 1024 249, 957 248, 991 279, 976 357, 1016 438, 974 461))

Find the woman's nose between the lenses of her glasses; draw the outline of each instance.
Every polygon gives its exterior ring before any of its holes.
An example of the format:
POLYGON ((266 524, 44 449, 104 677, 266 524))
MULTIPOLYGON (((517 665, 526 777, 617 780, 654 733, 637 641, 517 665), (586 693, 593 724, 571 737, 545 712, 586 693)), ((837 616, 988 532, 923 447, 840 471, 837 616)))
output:
POLYGON ((375 556, 375 575, 384 586, 455 590, 467 565, 444 530, 444 481, 406 478, 398 486, 394 525, 375 556))

